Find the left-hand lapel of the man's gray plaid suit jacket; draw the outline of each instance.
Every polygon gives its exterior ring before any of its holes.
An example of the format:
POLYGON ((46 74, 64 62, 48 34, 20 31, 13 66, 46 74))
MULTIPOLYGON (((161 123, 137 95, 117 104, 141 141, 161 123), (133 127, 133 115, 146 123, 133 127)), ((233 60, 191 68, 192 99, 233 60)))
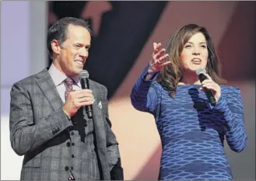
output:
POLYGON ((53 108, 53 110, 58 110, 61 106, 63 106, 63 102, 58 94, 58 91, 56 89, 56 86, 54 85, 51 75, 47 71, 47 68, 41 71, 37 75, 37 78, 39 78, 37 80, 37 85, 40 87, 42 92, 44 92, 44 96, 51 104, 51 107, 53 108))

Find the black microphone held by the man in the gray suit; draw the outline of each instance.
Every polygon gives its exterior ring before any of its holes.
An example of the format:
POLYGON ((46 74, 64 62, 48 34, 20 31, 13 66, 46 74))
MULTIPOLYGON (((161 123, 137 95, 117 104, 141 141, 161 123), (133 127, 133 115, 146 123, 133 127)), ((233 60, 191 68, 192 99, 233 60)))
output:
MULTIPOLYGON (((82 89, 89 89, 89 73, 86 70, 79 72, 79 79, 82 85, 82 89)), ((93 117, 93 105, 86 106, 86 113, 89 118, 93 117)))

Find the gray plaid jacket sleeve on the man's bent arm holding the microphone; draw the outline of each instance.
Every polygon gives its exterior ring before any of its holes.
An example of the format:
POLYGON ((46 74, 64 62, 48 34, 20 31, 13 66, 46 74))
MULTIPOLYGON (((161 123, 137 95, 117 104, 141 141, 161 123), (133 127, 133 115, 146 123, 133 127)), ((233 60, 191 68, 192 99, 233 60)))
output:
POLYGON ((34 151, 72 125, 62 108, 50 113, 35 124, 33 118, 35 110, 30 93, 18 83, 12 86, 10 96, 10 141, 17 155, 25 155, 29 151, 34 151))

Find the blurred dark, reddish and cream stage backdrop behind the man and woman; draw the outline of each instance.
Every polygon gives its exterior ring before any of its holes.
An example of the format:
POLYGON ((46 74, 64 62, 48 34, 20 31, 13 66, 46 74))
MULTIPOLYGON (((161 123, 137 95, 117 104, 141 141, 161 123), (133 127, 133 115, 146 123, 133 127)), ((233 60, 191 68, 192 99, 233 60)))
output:
MULTIPOLYGON (((120 145, 126 180, 156 180, 159 173, 161 144, 153 116, 135 110, 129 98, 133 83, 150 60, 153 42, 165 46, 170 35, 187 23, 205 26, 223 63, 223 77, 241 89, 244 99, 247 148, 237 154, 225 142, 226 155, 235 179, 255 178, 255 2, 65 1, 47 2, 47 7, 46 26, 56 19, 74 16, 86 19, 93 30, 85 68, 90 78, 107 86, 110 120, 120 145)), ((45 44, 45 40, 40 44, 45 44)), ((32 47, 26 48, 30 51, 32 47)), ((7 59, 6 56, 4 61, 7 59)), ((45 62, 51 64, 47 58, 45 62)), ((2 105, 9 106, 8 99, 2 105)), ((8 117, 4 122, 8 129, 8 117)), ((4 138, 1 137, 7 147, 2 155, 5 156, 2 168, 10 155, 16 158, 8 148, 7 133, 4 131, 4 138)), ((20 160, 16 162, 21 165, 20 160)), ((2 174, 5 174, 2 179, 11 177, 6 172, 2 174)))

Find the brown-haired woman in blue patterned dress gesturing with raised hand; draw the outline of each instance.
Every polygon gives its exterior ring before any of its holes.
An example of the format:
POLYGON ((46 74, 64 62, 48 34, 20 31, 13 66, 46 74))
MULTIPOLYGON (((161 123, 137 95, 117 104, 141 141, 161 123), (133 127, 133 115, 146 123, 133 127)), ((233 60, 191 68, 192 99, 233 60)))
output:
POLYGON ((135 82, 135 109, 152 113, 162 141, 159 179, 230 180, 224 136, 233 151, 245 148, 244 108, 240 89, 226 85, 211 37, 189 24, 167 44, 154 43, 153 60, 135 82), (167 51, 167 54, 165 53, 167 51), (205 68, 200 82, 195 71, 205 68), (205 89, 212 91, 211 105, 205 89))

